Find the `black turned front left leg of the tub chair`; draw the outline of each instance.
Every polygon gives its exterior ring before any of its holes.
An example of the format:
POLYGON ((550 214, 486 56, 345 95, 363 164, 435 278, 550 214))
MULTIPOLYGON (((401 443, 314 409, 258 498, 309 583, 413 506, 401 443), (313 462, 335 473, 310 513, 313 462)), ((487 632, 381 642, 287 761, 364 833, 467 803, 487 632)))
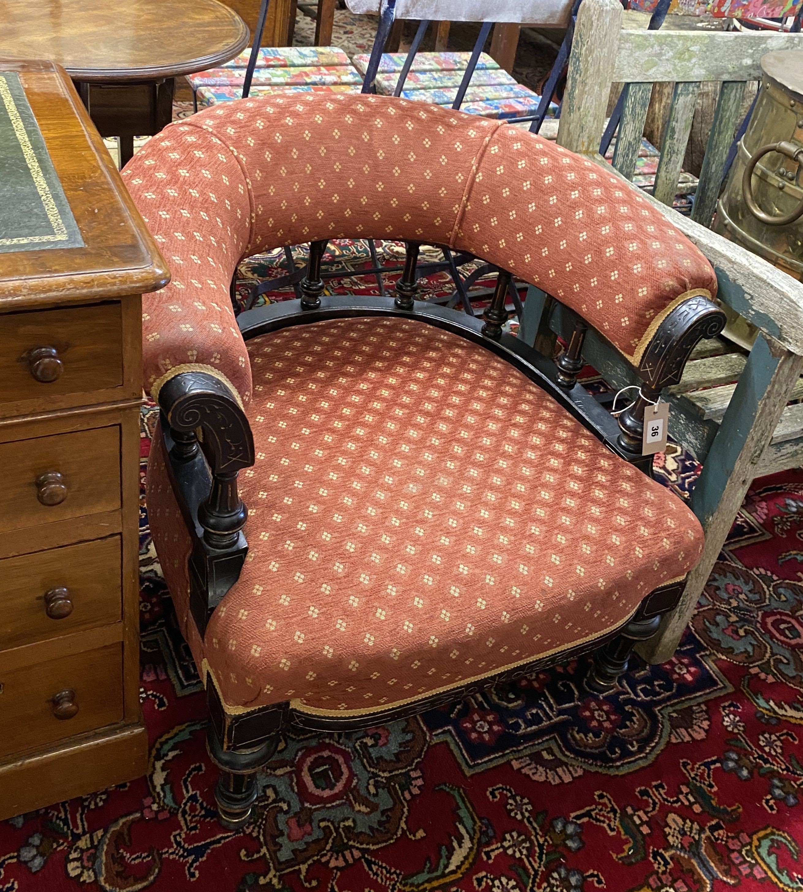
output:
POLYGON ((226 830, 242 830, 251 820, 252 805, 257 797, 256 775, 273 757, 278 734, 260 747, 237 751, 225 750, 210 723, 206 731, 206 747, 219 770, 215 786, 218 820, 226 830))

